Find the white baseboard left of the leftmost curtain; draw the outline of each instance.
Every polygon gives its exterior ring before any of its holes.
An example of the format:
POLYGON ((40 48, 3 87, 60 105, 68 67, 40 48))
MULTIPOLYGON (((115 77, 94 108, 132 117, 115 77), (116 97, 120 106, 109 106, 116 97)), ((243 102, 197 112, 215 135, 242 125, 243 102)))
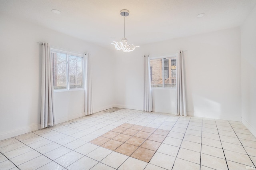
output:
POLYGON ((18 135, 21 135, 21 134, 24 134, 24 133, 32 132, 32 131, 38 130, 40 128, 41 128, 41 125, 38 124, 38 125, 29 126, 29 127, 26 127, 26 128, 19 128, 17 130, 12 130, 12 131, 9 131, 9 132, 1 133, 0 134, 0 140, 4 140, 4 139, 8 139, 8 138, 11 138, 11 137, 14 137, 14 136, 18 136, 18 135))

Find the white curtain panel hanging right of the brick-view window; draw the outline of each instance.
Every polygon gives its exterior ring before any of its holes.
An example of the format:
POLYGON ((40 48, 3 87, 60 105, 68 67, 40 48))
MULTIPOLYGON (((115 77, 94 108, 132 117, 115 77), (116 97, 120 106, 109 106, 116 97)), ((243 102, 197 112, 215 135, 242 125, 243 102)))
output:
POLYGON ((176 57, 176 109, 175 109, 175 115, 187 116, 182 51, 177 51, 177 57, 176 57))

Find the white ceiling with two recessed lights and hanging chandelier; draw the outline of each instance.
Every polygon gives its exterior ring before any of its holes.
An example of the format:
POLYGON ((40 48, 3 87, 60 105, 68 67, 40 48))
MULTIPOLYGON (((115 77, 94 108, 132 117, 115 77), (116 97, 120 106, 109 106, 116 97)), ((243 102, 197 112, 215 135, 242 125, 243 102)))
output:
POLYGON ((0 14, 113 48, 124 36, 143 45, 240 26, 256 0, 0 0, 0 14), (54 14, 52 9, 61 11, 54 14), (196 16, 206 15, 202 18, 196 16))

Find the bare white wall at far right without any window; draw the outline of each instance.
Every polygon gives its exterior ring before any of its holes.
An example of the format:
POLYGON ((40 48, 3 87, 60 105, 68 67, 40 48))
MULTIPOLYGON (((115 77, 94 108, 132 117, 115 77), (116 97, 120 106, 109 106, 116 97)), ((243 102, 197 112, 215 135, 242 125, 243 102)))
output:
POLYGON ((256 6, 241 26, 242 123, 256 136, 256 6))

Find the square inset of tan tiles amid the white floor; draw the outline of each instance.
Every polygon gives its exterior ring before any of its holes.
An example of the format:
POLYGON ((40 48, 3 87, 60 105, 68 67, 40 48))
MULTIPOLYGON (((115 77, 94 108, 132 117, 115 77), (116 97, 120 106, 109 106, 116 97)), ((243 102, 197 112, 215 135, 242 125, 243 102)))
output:
POLYGON ((124 123, 90 143, 149 162, 169 130, 124 123))

